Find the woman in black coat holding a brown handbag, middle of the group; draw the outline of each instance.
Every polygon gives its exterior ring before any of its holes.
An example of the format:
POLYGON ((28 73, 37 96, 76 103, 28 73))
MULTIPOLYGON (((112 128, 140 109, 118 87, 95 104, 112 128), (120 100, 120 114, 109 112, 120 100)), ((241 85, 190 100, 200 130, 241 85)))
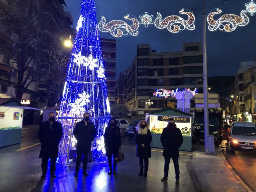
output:
POLYGON ((105 129, 105 150, 106 156, 108 157, 109 163, 109 172, 110 175, 112 173, 112 155, 114 156, 114 169, 113 174, 116 174, 116 160, 115 158, 118 156, 118 151, 121 150, 121 132, 120 128, 117 126, 117 122, 114 118, 111 118, 109 121, 108 127, 105 129))

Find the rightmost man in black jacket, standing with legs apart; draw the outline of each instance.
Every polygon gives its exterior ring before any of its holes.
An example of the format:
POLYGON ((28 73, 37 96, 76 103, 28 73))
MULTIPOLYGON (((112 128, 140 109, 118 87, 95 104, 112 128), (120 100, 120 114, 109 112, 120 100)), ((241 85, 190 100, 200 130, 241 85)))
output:
POLYGON ((163 129, 161 135, 161 143, 163 146, 163 157, 165 157, 164 177, 161 181, 168 180, 170 159, 173 159, 174 170, 176 175, 176 184, 180 183, 180 167, 178 158, 180 157, 179 148, 183 143, 182 134, 179 128, 176 127, 173 118, 169 118, 166 128, 163 129))

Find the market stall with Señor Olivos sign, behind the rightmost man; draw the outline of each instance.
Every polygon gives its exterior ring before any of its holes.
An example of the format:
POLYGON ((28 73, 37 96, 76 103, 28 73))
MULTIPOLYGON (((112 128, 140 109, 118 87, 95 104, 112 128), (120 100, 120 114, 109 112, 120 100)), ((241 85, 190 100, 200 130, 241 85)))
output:
POLYGON ((192 114, 172 108, 166 108, 146 114, 146 121, 149 123, 149 128, 152 133, 151 147, 163 148, 160 140, 161 133, 163 128, 167 126, 168 119, 171 117, 174 118, 177 128, 181 129, 183 136, 183 143, 179 150, 191 151, 192 114))

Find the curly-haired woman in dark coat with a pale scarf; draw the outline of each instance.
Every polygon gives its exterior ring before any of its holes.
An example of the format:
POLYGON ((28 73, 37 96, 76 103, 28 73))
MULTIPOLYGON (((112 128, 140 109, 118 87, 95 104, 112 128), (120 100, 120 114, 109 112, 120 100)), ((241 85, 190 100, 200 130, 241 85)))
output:
POLYGON ((144 160, 144 177, 147 177, 148 171, 148 158, 151 157, 150 143, 152 141, 151 132, 148 128, 146 121, 140 121, 137 125, 137 131, 135 134, 136 142, 136 156, 140 161, 140 173, 139 176, 143 176, 143 160, 144 160))

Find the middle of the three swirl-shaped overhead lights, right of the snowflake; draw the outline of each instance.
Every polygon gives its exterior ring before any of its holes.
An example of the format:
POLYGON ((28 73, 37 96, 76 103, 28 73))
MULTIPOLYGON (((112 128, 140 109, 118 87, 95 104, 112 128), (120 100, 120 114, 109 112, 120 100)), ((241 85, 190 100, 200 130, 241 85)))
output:
POLYGON ((178 33, 185 29, 187 30, 194 30, 195 29, 195 15, 191 11, 184 11, 181 9, 179 11, 180 14, 188 15, 188 19, 185 20, 180 16, 172 15, 167 16, 166 18, 162 19, 162 15, 157 13, 157 18, 155 19, 155 26, 158 29, 167 29, 171 33, 178 33))

